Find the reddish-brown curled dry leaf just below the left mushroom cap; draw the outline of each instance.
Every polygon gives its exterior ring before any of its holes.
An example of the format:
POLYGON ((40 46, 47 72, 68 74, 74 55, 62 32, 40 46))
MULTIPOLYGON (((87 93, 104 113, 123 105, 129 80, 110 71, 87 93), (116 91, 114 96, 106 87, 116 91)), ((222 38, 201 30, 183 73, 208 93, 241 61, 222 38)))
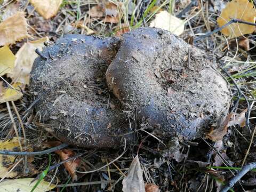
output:
MULTIPOLYGON (((60 156, 62 161, 65 161, 66 159, 75 156, 74 151, 70 149, 58 150, 56 151, 56 153, 60 156)), ((80 158, 72 159, 64 163, 65 169, 71 175, 73 181, 77 180, 76 168, 80 165, 80 163, 81 163, 80 158)))

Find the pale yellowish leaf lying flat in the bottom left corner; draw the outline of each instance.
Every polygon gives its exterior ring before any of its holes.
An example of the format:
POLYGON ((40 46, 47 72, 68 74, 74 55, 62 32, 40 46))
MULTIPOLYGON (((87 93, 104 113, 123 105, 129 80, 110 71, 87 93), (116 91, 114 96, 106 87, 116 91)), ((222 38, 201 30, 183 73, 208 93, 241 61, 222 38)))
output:
MULTIPOLYGON (((37 180, 33 183, 30 183, 34 178, 25 178, 25 179, 12 179, 5 180, 0 183, 0 191, 5 192, 29 192, 33 189, 37 180)), ((54 185, 49 186, 49 182, 42 180, 39 185, 36 187, 34 192, 45 192, 55 188, 54 185)))

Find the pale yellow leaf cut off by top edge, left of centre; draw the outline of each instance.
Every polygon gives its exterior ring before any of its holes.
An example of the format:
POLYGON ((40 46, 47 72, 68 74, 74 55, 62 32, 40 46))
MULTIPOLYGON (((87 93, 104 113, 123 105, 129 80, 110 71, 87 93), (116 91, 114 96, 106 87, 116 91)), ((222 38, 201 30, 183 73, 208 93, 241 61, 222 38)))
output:
POLYGON ((29 0, 36 11, 45 19, 50 19, 57 14, 62 0, 29 0))

